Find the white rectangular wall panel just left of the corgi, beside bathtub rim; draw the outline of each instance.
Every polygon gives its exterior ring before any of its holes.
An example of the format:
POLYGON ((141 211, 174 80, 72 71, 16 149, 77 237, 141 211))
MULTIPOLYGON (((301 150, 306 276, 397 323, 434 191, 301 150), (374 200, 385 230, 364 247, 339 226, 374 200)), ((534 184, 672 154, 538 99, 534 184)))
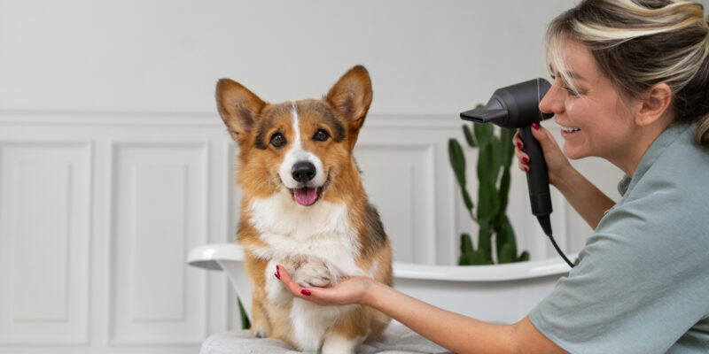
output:
POLYGON ((184 255, 207 241, 207 144, 118 143, 113 158, 111 342, 201 342, 206 273, 184 255))

